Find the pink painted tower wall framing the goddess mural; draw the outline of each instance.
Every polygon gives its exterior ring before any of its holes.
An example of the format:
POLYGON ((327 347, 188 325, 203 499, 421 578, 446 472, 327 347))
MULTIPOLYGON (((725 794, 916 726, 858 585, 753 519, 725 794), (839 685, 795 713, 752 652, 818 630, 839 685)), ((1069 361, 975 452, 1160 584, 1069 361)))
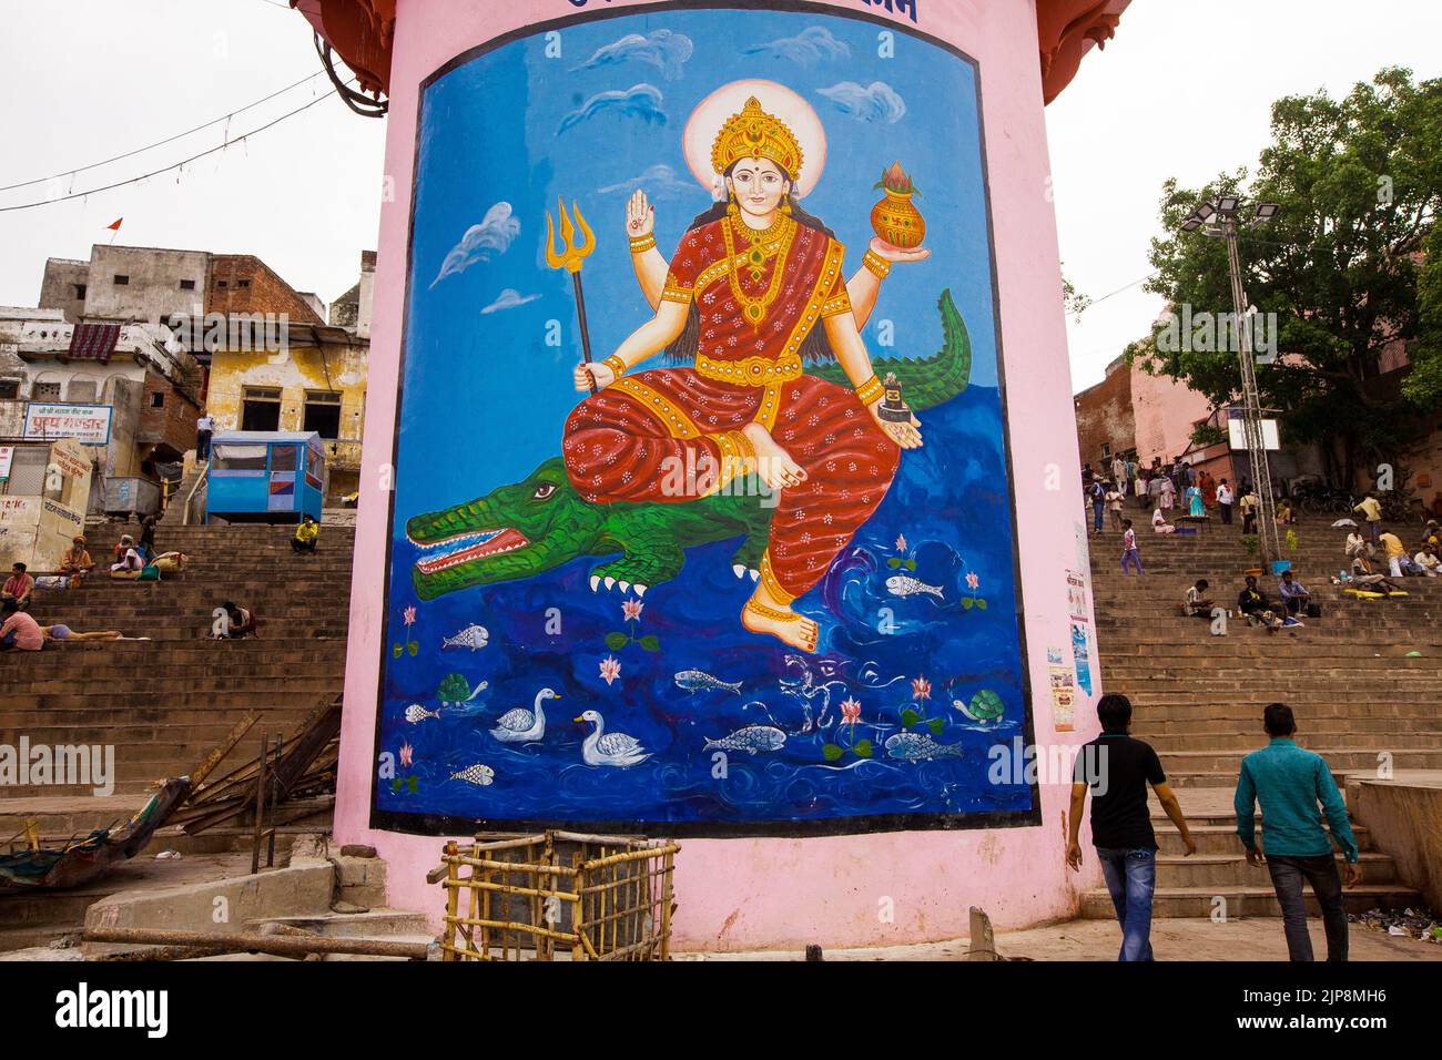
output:
MULTIPOLYGON (((596 6, 614 12, 633 3, 611 0, 596 6)), ((859 0, 835 0, 831 6, 851 13, 868 10, 859 0)), ((1056 221, 1047 198, 1050 162, 1035 10, 1027 0, 920 0, 919 12, 919 29, 952 42, 981 63, 1001 337, 1011 384, 1017 545, 1024 557, 1021 581, 1034 725, 1043 747, 1080 743, 1096 731, 1090 708, 1094 698, 1079 699, 1080 733, 1054 737, 1047 692, 1047 645, 1070 643, 1066 570, 1077 564, 1074 526, 1082 498, 1074 473, 1079 457, 1066 332, 1057 296, 1061 274, 1056 221)), ((373 844, 389 861, 391 904, 424 909, 437 924, 443 896, 440 888, 425 884, 424 875, 437 864, 444 841, 376 832, 368 825, 382 630, 379 586, 395 431, 391 395, 397 388, 405 294, 417 91, 427 75, 467 48, 574 13, 577 7, 570 0, 399 3, 386 140, 386 176, 395 182, 395 200, 381 213, 372 397, 360 476, 335 831, 340 842, 373 844)), ((735 17, 746 14, 737 12, 735 17)), ((1096 685, 1093 691, 1100 694, 1096 685)), ((796 948, 806 942, 861 946, 957 937, 968 930, 969 906, 985 907, 998 927, 1066 917, 1077 907, 1079 888, 1099 883, 1094 867, 1079 877, 1063 864, 1069 780, 1043 786, 1044 823, 1034 828, 682 839, 676 865, 678 945, 756 949, 796 948), (890 920, 880 913, 887 900, 894 909, 890 920)))

